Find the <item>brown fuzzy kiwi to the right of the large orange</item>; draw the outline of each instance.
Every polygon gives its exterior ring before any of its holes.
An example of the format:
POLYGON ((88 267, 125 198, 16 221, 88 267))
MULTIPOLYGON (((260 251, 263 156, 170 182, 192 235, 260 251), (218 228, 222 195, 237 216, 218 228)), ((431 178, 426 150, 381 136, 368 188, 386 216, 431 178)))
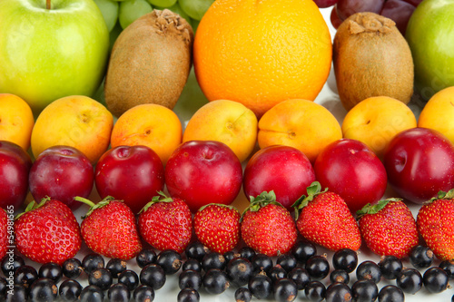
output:
POLYGON ((409 44, 389 18, 367 12, 350 15, 334 36, 332 61, 347 111, 371 96, 410 102, 413 58, 409 44))

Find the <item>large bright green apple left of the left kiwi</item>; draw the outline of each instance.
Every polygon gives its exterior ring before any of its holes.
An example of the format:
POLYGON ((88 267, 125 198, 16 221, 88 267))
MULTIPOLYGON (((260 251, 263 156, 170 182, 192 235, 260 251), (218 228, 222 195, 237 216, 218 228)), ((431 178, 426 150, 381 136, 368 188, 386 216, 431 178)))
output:
POLYGON ((108 52, 93 0, 0 1, 0 93, 22 97, 35 115, 61 97, 94 94, 108 52))

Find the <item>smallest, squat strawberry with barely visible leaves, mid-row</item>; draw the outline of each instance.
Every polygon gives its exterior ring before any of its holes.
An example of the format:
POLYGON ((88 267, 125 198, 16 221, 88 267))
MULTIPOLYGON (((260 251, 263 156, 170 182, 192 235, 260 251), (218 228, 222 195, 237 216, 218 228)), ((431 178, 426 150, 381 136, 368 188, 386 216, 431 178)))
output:
POLYGON ((194 230, 197 239, 210 250, 225 253, 240 241, 240 219, 238 209, 211 203, 198 209, 194 215, 194 230))

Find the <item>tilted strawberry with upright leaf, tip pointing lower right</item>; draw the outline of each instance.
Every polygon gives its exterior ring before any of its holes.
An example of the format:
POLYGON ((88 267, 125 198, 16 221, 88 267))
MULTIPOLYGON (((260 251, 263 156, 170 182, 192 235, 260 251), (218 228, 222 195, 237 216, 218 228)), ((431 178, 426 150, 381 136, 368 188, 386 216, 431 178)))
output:
POLYGON ((359 249, 360 229, 345 200, 327 189, 321 191, 318 181, 307 192, 307 197, 301 196, 292 205, 301 236, 331 250, 359 249))

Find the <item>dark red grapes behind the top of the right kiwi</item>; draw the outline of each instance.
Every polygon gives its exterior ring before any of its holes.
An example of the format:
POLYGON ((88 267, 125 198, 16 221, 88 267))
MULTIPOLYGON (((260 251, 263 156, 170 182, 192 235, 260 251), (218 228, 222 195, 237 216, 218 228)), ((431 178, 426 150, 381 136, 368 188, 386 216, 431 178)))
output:
POLYGON ((372 12, 390 18, 405 35, 407 24, 422 0, 314 0, 320 8, 331 7, 331 24, 338 28, 343 20, 360 12, 372 12))

